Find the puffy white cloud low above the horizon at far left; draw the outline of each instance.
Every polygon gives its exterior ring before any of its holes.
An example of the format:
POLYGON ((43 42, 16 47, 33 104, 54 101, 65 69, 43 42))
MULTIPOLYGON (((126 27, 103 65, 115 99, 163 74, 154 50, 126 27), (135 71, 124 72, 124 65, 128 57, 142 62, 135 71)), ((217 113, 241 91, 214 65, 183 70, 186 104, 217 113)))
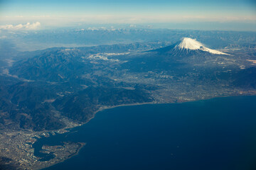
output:
POLYGON ((18 24, 16 26, 14 25, 5 25, 0 26, 0 29, 4 30, 36 30, 41 26, 41 23, 26 23, 26 24, 18 24))

